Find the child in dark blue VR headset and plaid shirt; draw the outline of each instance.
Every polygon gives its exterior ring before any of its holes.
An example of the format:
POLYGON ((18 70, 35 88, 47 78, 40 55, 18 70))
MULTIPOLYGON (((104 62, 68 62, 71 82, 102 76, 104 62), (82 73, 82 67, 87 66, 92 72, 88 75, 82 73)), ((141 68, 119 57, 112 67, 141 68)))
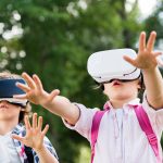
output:
POLYGON ((59 163, 55 150, 46 136, 49 126, 42 130, 42 117, 33 115, 30 125, 29 102, 11 98, 13 93, 23 93, 15 86, 24 79, 10 72, 0 73, 0 162, 1 163, 59 163), (25 127, 22 124, 25 120, 25 127), (38 123, 38 124, 37 124, 38 123))

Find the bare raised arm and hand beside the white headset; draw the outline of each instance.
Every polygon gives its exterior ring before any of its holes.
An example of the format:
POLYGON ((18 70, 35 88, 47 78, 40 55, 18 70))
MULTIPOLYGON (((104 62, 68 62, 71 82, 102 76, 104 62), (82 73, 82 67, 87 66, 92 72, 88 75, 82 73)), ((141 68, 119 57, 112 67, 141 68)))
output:
POLYGON ((163 108, 163 78, 158 67, 156 57, 161 52, 154 52, 156 33, 152 32, 146 45, 146 33, 139 37, 139 51, 135 60, 124 57, 134 66, 142 70, 147 100, 149 104, 156 109, 163 108))

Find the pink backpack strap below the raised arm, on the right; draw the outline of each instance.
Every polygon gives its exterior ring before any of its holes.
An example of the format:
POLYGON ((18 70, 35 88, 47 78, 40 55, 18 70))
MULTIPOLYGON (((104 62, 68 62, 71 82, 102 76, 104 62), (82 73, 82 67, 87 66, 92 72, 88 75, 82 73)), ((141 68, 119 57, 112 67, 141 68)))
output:
POLYGON ((136 105, 136 106, 134 106, 134 109, 135 109, 135 113, 137 115, 139 125, 140 125, 141 129, 145 131, 149 143, 151 145, 151 147, 154 151, 154 154, 158 159, 158 162, 161 163, 161 159, 159 155, 158 138, 152 129, 149 117, 148 117, 147 113, 145 112, 142 105, 136 105))

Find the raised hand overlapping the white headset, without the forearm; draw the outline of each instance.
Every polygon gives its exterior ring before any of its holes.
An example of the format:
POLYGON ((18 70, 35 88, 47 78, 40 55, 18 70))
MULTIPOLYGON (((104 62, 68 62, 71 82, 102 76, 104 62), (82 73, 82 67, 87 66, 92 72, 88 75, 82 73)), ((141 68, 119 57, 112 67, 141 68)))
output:
POLYGON ((151 32, 150 37, 146 43, 146 33, 142 32, 139 37, 139 50, 137 58, 134 60, 125 55, 124 59, 134 66, 141 70, 155 68, 158 65, 156 57, 162 54, 162 52, 153 51, 155 37, 156 33, 151 32))

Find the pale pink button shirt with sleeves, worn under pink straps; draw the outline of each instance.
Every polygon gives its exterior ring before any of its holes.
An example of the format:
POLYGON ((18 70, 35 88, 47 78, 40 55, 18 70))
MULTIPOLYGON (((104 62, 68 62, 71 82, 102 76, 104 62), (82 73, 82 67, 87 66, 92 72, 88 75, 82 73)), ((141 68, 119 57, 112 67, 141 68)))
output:
MULTIPOLYGON (((156 163, 154 152, 131 106, 138 103, 139 99, 135 99, 124 104, 123 109, 111 108, 103 115, 95 148, 93 163, 156 163)), ((68 128, 77 130, 90 141, 92 117, 98 109, 87 109, 83 104, 75 104, 80 110, 80 117, 76 125, 71 126, 64 120, 63 122, 68 128)), ((163 110, 155 111, 150 108, 146 98, 142 106, 160 140, 163 130, 163 110)), ((162 158, 161 145, 158 143, 162 158)))

